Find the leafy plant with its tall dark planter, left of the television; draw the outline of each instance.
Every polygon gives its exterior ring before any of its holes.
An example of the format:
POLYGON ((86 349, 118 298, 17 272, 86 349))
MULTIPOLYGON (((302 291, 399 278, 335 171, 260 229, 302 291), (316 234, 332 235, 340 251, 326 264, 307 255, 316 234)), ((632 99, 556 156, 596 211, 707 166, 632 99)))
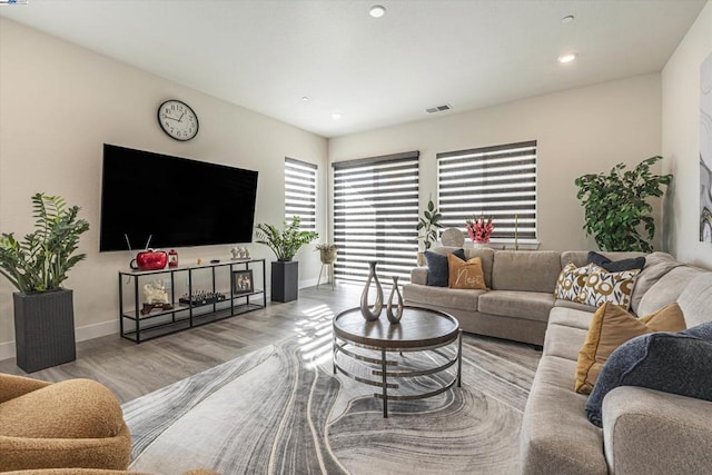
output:
POLYGON ((75 254, 89 222, 79 207, 58 196, 32 197, 34 231, 17 240, 0 235, 0 274, 19 291, 14 304, 17 364, 27 373, 76 359, 72 290, 61 287, 67 273, 86 258, 75 254))

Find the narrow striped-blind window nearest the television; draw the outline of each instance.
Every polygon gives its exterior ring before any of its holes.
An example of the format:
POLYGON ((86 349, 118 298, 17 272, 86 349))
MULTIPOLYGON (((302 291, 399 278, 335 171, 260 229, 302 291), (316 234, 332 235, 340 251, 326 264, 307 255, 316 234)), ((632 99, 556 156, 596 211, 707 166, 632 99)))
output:
POLYGON ((299 229, 316 230, 316 165, 285 158, 285 219, 300 218, 299 229))

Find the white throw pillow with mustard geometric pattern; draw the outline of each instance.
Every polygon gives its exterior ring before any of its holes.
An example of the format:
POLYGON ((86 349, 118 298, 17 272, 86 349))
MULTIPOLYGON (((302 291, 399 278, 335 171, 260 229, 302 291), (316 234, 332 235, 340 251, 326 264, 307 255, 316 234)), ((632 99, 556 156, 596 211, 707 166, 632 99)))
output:
POLYGON ((627 310, 631 306, 635 277, 639 274, 640 269, 609 273, 603 267, 592 264, 577 301, 593 307, 611 301, 627 310))

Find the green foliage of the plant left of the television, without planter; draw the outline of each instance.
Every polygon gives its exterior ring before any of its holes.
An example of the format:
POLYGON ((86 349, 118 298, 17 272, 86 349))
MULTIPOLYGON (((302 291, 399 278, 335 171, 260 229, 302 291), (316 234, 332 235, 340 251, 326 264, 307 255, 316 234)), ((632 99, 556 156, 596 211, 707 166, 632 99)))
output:
POLYGON ((0 274, 21 293, 56 290, 69 269, 87 257, 75 251, 89 222, 78 219, 78 206, 68 207, 59 196, 38 192, 32 209, 33 232, 22 240, 13 232, 0 235, 0 274))

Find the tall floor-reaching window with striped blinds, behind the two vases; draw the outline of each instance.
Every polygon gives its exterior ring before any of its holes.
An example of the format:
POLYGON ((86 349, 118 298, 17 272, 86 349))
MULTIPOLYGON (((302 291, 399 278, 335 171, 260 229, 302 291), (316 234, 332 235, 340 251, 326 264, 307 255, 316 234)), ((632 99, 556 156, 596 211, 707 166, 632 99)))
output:
POLYGON ((334 164, 334 241, 339 280, 411 279, 417 265, 418 156, 412 151, 334 164))

